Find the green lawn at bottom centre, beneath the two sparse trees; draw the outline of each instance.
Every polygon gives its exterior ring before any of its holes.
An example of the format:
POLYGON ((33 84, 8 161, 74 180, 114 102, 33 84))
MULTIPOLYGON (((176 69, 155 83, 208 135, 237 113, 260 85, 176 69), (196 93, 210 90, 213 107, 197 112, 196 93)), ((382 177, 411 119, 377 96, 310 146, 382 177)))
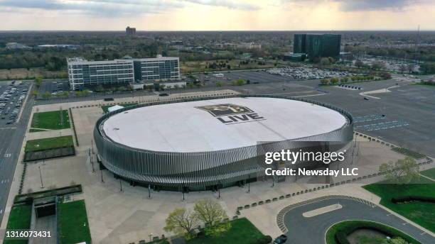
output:
POLYGON ((218 238, 201 236, 188 240, 188 244, 249 244, 264 236, 247 218, 239 218, 231 221, 231 228, 218 238))

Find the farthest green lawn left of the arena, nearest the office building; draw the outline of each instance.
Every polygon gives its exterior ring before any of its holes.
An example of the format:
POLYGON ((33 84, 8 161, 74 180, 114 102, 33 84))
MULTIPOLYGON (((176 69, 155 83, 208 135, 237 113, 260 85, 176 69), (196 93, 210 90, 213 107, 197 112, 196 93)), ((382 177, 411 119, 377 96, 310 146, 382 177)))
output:
MULTIPOLYGON (((50 130, 60 130, 70 128, 70 118, 68 111, 49 111, 42 113, 33 113, 31 128, 41 128, 50 130)), ((31 132, 36 132, 32 131, 31 132)))

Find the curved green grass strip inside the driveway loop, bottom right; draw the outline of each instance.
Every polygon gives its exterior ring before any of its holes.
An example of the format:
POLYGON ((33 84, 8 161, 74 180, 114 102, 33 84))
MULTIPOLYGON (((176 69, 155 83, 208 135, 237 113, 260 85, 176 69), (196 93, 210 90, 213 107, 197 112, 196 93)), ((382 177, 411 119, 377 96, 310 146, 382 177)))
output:
MULTIPOLYGON (((381 223, 375 223, 372 221, 343 221, 340 223, 335 223, 335 225, 331 226, 331 228, 328 229, 328 232, 326 233, 326 243, 327 244, 336 244, 338 243, 335 240, 335 234, 338 231, 343 231, 344 233, 353 233, 353 231, 355 228, 364 228, 365 226, 367 227, 372 227, 372 228, 376 228, 380 231, 385 231, 387 233, 391 233, 392 235, 394 235, 393 237, 400 237, 404 240, 408 240, 409 243, 415 243, 418 244, 420 243, 418 240, 415 240, 414 238, 412 238, 411 236, 403 233, 402 231, 399 231, 395 228, 391 228, 390 226, 385 226, 381 223)), ((363 243, 381 243, 382 240, 385 240, 384 238, 370 238, 369 236, 364 236, 363 238, 360 238, 359 243, 363 244, 363 243)))

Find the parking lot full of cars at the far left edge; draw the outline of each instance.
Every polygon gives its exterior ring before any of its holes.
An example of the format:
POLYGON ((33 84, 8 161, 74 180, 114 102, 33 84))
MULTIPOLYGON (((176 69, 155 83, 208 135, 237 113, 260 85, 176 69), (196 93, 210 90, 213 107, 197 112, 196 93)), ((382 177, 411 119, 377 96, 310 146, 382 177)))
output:
POLYGON ((0 126, 16 123, 30 83, 10 82, 0 85, 0 126))

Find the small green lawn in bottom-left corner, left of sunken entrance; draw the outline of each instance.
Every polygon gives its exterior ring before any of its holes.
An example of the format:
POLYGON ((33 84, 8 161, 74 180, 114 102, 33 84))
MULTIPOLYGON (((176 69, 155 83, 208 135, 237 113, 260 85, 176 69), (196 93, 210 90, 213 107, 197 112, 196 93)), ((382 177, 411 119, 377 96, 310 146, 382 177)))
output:
MULTIPOLYGON (((32 206, 21 205, 14 206, 9 214, 8 224, 6 229, 8 230, 26 230, 31 225, 32 206)), ((27 243, 27 240, 4 240, 4 244, 21 244, 27 243)))

